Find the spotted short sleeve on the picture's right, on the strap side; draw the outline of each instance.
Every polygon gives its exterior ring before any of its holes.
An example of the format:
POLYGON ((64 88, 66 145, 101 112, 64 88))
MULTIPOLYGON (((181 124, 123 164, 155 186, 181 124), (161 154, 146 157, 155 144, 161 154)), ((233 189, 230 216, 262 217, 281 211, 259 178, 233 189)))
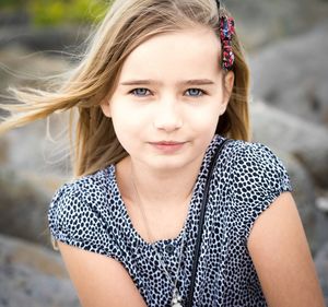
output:
POLYGON ((246 240, 257 217, 284 191, 292 187, 282 162, 266 145, 245 142, 234 164, 233 197, 246 240))

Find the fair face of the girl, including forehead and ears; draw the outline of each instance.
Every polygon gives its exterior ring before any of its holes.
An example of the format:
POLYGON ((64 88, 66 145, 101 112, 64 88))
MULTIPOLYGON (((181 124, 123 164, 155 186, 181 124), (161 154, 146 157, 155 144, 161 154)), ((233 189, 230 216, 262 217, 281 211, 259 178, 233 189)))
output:
POLYGON ((204 27, 157 35, 129 55, 102 108, 134 163, 169 170, 201 162, 233 86, 220 55, 204 27))

